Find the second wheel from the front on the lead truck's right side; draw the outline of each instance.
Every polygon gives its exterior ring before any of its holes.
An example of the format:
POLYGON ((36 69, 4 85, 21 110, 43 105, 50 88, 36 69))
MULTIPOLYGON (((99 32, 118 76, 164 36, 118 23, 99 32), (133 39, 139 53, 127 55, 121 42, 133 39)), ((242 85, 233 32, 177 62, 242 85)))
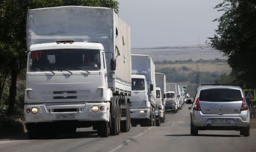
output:
POLYGON ((112 100, 111 103, 111 125, 110 125, 110 135, 118 135, 120 133, 120 113, 118 108, 118 100, 112 100))

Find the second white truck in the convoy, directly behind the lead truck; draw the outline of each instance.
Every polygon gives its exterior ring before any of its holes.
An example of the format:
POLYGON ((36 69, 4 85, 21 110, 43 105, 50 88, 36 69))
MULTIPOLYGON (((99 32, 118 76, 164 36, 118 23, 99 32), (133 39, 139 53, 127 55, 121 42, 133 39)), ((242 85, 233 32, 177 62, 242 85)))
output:
POLYGON ((131 125, 155 125, 155 65, 148 55, 131 54, 131 125))

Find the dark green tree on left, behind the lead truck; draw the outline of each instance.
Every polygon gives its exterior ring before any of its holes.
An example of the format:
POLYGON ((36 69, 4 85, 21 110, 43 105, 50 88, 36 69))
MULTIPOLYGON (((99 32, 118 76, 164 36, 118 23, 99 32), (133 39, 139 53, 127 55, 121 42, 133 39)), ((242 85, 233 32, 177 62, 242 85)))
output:
MULTIPOLYGON (((8 113, 15 112, 16 82, 26 66, 26 17, 28 9, 54 6, 110 7, 118 12, 115 0, 2 0, 0 1, 0 88, 11 76, 8 113)), ((1 93, 1 90, 0 90, 1 93)), ((0 94, 1 95, 1 94, 0 94)))

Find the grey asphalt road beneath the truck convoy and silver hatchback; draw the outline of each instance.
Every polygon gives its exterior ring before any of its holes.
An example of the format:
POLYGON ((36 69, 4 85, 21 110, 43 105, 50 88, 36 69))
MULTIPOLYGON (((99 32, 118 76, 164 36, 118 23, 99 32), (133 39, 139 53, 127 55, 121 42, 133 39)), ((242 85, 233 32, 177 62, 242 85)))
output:
POLYGON ((168 113, 160 127, 132 127, 119 136, 101 138, 91 128, 78 129, 54 139, 27 140, 20 137, 2 138, 0 151, 256 151, 256 129, 250 137, 237 131, 199 131, 190 135, 188 105, 178 113, 168 113))

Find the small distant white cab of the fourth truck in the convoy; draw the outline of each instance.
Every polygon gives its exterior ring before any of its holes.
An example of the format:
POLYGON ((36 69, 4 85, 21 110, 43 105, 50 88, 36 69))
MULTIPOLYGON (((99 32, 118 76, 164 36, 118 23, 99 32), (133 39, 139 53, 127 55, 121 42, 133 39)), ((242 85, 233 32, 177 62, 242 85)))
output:
POLYGON ((176 113, 178 108, 177 105, 178 105, 178 102, 177 102, 175 91, 166 92, 166 106, 165 106, 166 112, 173 111, 174 113, 176 113))

